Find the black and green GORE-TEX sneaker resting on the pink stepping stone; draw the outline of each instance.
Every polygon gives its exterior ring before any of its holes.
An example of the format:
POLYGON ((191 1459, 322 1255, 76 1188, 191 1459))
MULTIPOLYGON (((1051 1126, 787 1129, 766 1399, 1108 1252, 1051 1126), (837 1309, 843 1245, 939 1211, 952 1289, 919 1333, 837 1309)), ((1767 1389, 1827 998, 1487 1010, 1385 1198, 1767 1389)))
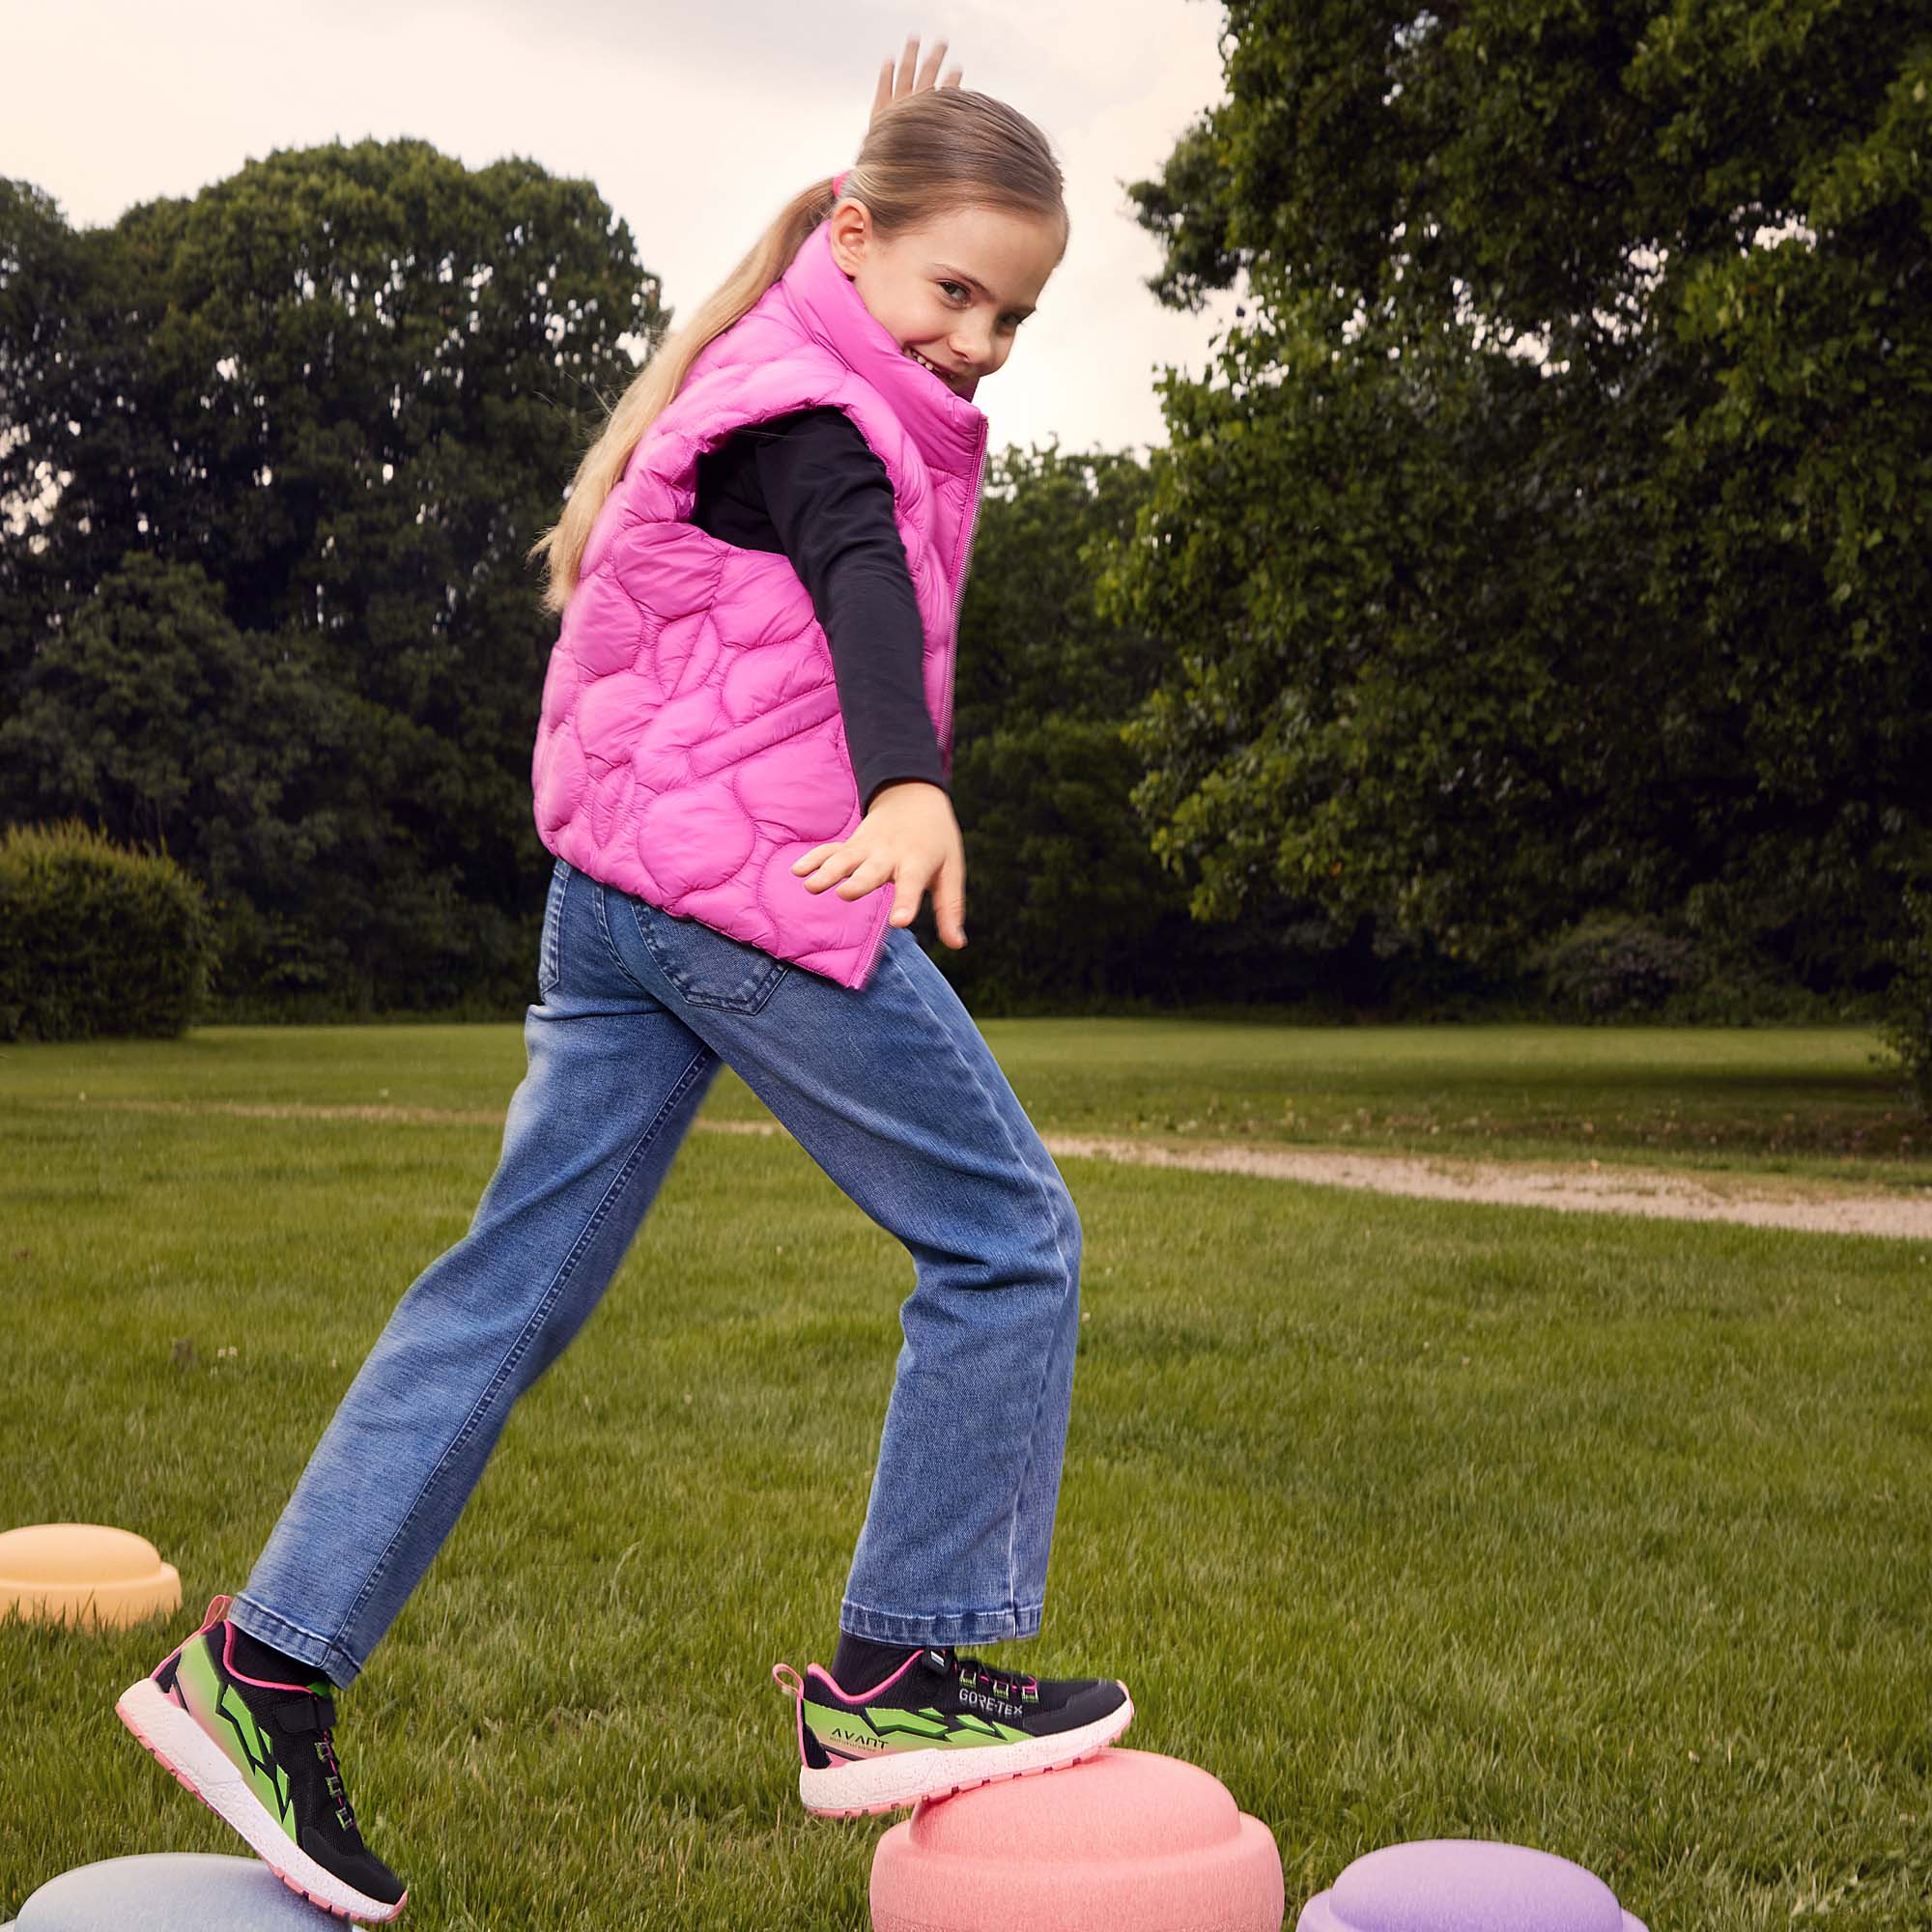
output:
POLYGON ((1053 1772, 1105 1750, 1132 1721, 1117 1677, 1039 1683, 916 1650, 871 1690, 846 1692, 821 1663, 771 1675, 798 1700, 798 1795, 817 1818, 862 1818, 1001 1777, 1053 1772))

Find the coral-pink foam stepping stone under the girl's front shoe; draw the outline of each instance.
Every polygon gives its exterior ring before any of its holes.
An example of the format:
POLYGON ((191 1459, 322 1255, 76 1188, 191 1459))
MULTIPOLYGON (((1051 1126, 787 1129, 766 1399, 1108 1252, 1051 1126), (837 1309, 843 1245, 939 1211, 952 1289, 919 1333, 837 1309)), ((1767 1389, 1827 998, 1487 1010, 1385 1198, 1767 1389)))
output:
POLYGON ((1281 1932, 1281 1911, 1267 1826, 1157 1750, 927 1799, 871 1861, 875 1932, 1281 1932))

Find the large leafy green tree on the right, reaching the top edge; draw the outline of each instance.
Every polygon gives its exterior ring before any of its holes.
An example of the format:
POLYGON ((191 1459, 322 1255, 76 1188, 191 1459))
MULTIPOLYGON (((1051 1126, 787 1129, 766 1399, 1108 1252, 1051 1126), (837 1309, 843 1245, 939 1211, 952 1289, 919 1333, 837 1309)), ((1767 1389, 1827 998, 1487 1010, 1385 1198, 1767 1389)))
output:
POLYGON ((1824 981, 1932 873, 1932 33, 1851 0, 1231 0, 1132 189, 1248 276, 1103 599, 1138 802, 1482 956, 1602 904, 1824 981))

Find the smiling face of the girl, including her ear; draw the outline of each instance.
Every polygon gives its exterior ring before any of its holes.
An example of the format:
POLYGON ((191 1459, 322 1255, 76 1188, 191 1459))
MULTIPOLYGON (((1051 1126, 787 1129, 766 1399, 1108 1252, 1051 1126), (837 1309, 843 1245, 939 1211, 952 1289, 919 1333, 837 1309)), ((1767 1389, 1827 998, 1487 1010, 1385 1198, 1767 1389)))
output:
POLYGON ((1012 354, 1066 249, 1057 220, 1003 209, 958 209, 891 242, 862 201, 840 201, 831 224, 833 259, 873 319, 960 396, 1012 354))

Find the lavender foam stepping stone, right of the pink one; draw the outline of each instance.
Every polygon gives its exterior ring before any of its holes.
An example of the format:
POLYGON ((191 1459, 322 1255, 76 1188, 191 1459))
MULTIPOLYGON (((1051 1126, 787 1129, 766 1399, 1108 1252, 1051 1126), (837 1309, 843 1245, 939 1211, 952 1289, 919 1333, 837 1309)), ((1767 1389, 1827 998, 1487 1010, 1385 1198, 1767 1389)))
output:
MULTIPOLYGON (((27 1932, 27 1928, 21 1928, 27 1932)), ((1528 1845, 1426 1837, 1356 1859, 1294 1932, 1644 1932, 1594 1872, 1528 1845)))

